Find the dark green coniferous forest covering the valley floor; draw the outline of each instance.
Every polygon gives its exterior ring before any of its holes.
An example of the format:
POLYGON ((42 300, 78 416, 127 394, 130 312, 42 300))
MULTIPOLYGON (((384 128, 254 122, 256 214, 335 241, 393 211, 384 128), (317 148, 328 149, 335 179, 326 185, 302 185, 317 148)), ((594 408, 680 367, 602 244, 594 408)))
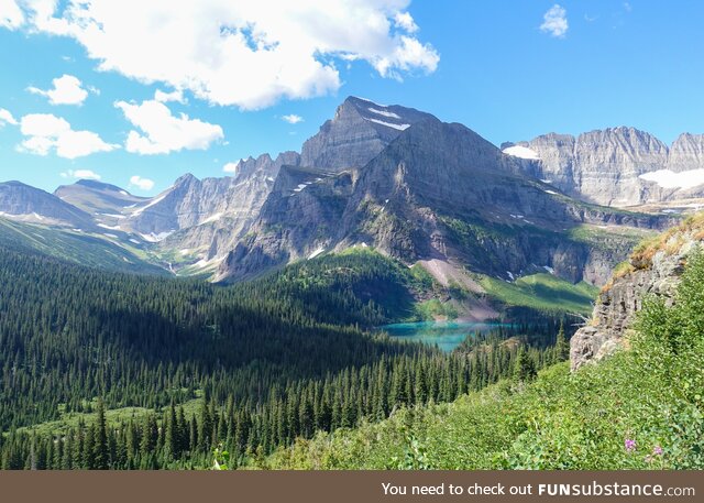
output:
POLYGON ((333 255, 218 286, 0 248, 0 466, 202 469, 213 449, 257 466, 297 438, 566 358, 557 319, 452 353, 373 335, 416 281, 391 262, 333 255))

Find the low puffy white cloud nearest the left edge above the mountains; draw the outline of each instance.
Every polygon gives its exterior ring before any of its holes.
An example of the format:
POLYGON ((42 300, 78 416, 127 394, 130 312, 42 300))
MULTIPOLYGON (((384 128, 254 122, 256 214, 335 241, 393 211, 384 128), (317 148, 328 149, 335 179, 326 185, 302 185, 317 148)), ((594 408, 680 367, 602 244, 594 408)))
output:
POLYGON ((119 147, 106 143, 91 131, 74 131, 66 120, 51 113, 24 116, 20 131, 28 138, 18 145, 18 150, 36 155, 47 155, 55 150, 59 157, 76 158, 119 147))

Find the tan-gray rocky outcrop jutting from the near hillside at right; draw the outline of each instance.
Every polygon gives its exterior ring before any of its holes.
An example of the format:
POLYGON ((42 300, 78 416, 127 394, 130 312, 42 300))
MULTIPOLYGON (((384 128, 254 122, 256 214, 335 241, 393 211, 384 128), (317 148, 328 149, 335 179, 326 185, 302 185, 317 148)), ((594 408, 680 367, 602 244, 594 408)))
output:
POLYGON ((600 294, 592 324, 580 328, 570 341, 572 370, 598 361, 619 348, 647 296, 663 297, 671 304, 686 256, 697 244, 692 232, 679 232, 653 255, 651 263, 634 264, 645 269, 615 278, 600 294), (680 248, 668 251, 674 243, 681 243, 680 248))

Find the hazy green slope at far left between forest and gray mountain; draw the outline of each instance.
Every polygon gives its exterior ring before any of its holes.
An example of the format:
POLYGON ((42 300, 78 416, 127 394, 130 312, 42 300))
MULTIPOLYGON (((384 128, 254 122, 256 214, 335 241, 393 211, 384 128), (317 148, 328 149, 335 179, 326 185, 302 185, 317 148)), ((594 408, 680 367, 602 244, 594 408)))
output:
POLYGON ((20 223, 4 218, 0 218, 0 244, 110 271, 167 274, 139 256, 140 251, 120 247, 107 238, 20 223))

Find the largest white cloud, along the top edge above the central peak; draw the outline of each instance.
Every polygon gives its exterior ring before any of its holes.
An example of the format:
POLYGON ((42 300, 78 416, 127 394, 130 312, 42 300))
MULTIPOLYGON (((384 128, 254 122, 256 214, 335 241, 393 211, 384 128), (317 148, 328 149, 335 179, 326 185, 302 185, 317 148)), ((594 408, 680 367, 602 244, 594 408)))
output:
POLYGON ((337 91, 336 59, 394 78, 439 61, 414 35, 410 0, 34 1, 29 31, 76 39, 100 69, 242 109, 337 91))

